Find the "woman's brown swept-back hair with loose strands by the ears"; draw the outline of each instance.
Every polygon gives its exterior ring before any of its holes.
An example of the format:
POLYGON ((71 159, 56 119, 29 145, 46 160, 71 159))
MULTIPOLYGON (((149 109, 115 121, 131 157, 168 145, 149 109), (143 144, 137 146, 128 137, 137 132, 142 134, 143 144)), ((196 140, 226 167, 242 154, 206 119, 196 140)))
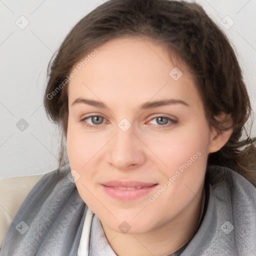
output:
POLYGON ((233 132, 221 149, 208 155, 207 164, 229 167, 256 186, 256 137, 250 138, 245 129, 253 112, 238 61, 226 35, 203 8, 185 1, 109 0, 79 20, 66 35, 48 64, 44 94, 46 113, 62 131, 59 166, 67 161, 63 142, 68 98, 63 81, 85 54, 126 35, 160 41, 186 63, 196 77, 210 125, 219 130, 230 128, 223 126, 227 120, 215 118, 221 111, 230 114, 233 132), (241 139, 243 130, 246 138, 241 139))

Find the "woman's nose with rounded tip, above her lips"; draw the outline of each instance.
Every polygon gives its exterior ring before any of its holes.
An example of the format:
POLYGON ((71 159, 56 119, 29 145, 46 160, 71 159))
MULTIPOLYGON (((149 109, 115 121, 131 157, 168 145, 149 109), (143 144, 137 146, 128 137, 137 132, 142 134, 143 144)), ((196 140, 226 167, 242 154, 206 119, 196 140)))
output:
POLYGON ((119 170, 137 168, 145 161, 145 145, 131 126, 123 131, 119 127, 108 147, 108 162, 119 170))

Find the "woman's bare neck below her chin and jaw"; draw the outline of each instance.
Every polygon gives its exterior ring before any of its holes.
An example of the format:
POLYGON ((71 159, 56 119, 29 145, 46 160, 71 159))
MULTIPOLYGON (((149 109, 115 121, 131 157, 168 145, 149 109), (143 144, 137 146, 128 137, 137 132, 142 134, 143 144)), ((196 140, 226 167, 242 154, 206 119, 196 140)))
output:
POLYGON ((101 222, 116 255, 166 256, 181 248, 196 231, 205 200, 203 184, 190 203, 174 218, 145 233, 120 233, 101 222), (191 221, 193 220, 193 221, 191 221))

